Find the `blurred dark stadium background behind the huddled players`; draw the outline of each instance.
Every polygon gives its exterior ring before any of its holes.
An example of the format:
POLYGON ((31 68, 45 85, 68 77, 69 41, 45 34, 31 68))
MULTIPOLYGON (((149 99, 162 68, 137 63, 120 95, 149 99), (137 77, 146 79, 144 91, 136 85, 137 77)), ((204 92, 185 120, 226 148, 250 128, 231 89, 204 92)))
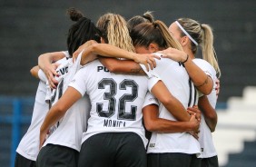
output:
POLYGON ((0 0, 0 7, 1 167, 14 165, 15 148, 31 120, 38 81, 30 69, 40 54, 66 48, 73 24, 65 15, 69 7, 80 9, 94 23, 107 12, 129 19, 153 11, 167 26, 179 17, 212 25, 222 70, 219 123, 213 133, 220 165, 256 166, 256 1, 0 0))

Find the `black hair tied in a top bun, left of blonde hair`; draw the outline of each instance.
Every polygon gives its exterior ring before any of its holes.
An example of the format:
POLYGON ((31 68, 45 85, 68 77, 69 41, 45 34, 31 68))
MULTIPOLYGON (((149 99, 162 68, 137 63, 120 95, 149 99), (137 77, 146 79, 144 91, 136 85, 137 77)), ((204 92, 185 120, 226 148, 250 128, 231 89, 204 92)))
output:
POLYGON ((68 54, 70 54, 70 56, 74 54, 74 51, 76 51, 80 45, 89 40, 95 40, 100 43, 98 29, 90 19, 84 17, 80 11, 74 8, 69 8, 67 15, 69 15, 72 21, 76 22, 69 28, 66 41, 68 54))

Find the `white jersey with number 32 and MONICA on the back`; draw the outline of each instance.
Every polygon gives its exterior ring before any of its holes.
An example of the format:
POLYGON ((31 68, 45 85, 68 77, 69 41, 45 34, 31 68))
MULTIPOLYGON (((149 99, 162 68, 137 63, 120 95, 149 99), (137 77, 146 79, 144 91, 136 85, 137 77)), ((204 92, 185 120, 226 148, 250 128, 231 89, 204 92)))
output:
POLYGON ((137 133, 144 136, 142 107, 148 91, 145 76, 110 73, 98 60, 75 74, 70 86, 90 96, 92 110, 83 142, 97 133, 137 133))

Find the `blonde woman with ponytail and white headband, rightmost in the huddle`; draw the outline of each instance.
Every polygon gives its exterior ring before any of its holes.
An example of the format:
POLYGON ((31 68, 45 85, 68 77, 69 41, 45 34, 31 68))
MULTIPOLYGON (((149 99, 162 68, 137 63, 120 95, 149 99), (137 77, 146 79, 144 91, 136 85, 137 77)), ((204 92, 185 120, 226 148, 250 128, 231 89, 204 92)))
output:
MULTIPOLYGON (((200 24, 191 18, 180 18, 170 25, 169 30, 182 44, 182 49, 190 55, 195 64, 202 67, 202 70, 206 73, 212 74, 214 81, 217 80, 216 75, 220 78, 221 70, 213 47, 213 34, 210 25, 200 24), (198 46, 201 46, 202 58, 211 65, 206 64, 202 59, 195 59, 198 46)), ((217 124, 217 113, 214 110, 216 102, 216 89, 212 89, 212 93, 202 96, 199 100, 199 107, 202 111, 201 133, 199 133, 199 142, 202 148, 202 167, 219 166, 211 133, 214 132, 217 124)))

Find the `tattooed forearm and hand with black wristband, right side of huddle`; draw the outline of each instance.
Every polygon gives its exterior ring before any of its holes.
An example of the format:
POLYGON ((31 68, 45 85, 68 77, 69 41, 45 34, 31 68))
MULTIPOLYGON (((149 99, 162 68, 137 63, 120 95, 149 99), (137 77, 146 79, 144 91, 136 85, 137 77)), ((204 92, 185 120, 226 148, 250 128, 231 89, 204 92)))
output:
POLYGON ((188 54, 171 47, 158 53, 162 54, 162 57, 171 58, 173 61, 182 63, 190 75, 192 82, 200 92, 205 95, 212 92, 212 78, 205 74, 199 66, 194 64, 188 54))

